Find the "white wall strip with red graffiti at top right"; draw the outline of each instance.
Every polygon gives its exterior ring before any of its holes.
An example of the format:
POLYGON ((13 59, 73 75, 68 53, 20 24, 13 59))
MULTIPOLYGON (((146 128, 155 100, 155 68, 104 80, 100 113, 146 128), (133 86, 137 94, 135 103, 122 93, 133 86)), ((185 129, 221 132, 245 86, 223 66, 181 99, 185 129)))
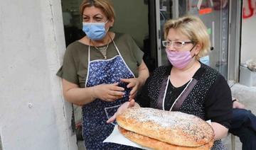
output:
POLYGON ((256 59, 256 0, 243 0, 241 63, 256 59), (251 3, 250 3, 251 2, 251 3))

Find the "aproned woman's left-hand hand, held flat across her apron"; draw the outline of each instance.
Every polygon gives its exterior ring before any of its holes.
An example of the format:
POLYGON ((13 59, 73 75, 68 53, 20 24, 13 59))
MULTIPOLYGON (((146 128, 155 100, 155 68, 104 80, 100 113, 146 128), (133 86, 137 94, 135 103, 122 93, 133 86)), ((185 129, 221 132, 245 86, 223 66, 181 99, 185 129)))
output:
POLYGON ((124 96, 124 88, 119 87, 118 83, 101 84, 92 88, 92 97, 100 98, 104 101, 114 101, 124 96))

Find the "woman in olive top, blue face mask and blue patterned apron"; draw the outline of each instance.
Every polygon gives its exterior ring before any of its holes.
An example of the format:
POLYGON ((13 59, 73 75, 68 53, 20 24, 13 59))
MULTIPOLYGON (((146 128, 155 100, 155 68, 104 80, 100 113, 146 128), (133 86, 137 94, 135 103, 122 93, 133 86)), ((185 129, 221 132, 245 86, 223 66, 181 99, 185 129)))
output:
POLYGON ((82 136, 86 149, 129 149, 102 143, 112 132, 106 120, 119 105, 134 98, 149 71, 143 52, 127 34, 110 32, 114 9, 108 0, 84 0, 80 5, 86 36, 68 46, 58 76, 70 103, 82 105, 82 136))

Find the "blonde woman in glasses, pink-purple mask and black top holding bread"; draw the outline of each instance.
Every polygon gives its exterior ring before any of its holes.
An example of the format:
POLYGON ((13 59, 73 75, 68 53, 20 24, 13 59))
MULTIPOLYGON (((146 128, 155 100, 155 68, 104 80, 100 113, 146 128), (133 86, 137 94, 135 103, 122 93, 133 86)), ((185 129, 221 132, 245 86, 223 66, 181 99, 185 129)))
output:
MULTIPOLYGON (((171 66, 156 69, 135 98, 136 103, 132 100, 129 107, 139 104, 210 120, 215 134, 212 149, 225 149, 220 139, 228 134, 232 97, 224 77, 199 62, 210 50, 206 26, 196 16, 185 16, 167 21, 164 37, 163 45, 171 66)), ((122 113, 127 106, 127 103, 122 105, 117 113, 122 113)), ((114 117, 108 122, 113 120, 114 117)))

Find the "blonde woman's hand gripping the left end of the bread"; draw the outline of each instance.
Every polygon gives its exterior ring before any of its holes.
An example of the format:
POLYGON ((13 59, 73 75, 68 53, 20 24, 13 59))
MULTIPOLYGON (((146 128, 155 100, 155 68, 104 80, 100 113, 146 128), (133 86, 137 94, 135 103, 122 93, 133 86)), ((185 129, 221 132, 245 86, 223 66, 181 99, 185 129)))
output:
POLYGON ((139 107, 139 104, 135 103, 135 100, 132 99, 129 102, 123 103, 117 110, 117 113, 114 113, 112 117, 110 117, 109 120, 107 120, 107 123, 114 122, 114 120, 117 118, 117 115, 124 113, 127 108, 132 108, 132 107, 139 107))

